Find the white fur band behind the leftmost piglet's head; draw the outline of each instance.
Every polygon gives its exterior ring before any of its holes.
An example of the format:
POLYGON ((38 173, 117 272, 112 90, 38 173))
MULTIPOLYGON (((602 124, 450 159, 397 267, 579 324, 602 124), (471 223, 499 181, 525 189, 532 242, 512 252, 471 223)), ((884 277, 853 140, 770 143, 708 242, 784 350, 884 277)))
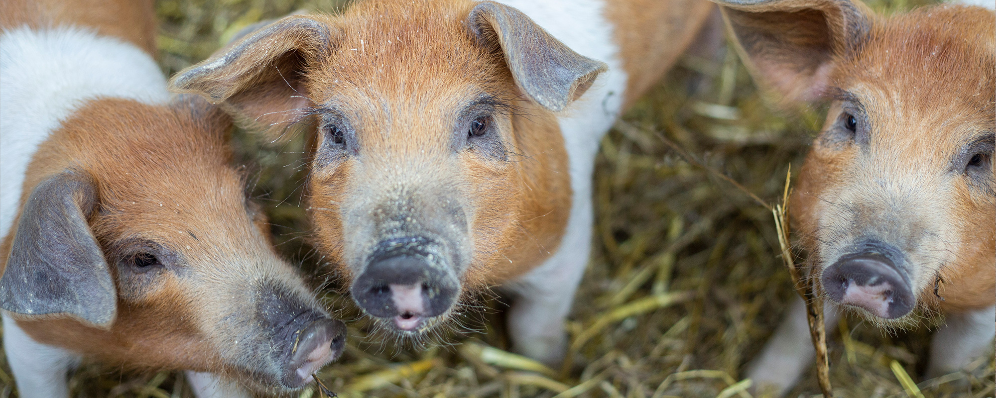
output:
POLYGON ((38 145, 96 97, 169 100, 152 58, 121 40, 73 27, 0 36, 0 234, 14 221, 38 145))

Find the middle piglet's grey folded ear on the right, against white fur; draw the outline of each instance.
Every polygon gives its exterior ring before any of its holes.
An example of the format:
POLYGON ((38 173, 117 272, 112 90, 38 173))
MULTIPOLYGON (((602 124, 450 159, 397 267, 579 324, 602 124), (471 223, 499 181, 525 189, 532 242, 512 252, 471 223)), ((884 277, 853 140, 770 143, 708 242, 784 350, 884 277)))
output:
POLYGON ((481 44, 500 48, 519 88, 553 111, 581 97, 608 70, 606 64, 575 53, 526 14, 504 4, 485 1, 474 6, 467 24, 481 44))

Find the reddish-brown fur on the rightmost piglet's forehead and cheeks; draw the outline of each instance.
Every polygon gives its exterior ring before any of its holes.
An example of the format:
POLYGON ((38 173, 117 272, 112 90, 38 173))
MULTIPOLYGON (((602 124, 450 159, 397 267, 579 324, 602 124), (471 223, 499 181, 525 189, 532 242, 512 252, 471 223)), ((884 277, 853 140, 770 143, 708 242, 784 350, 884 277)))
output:
MULTIPOLYGON (((978 8, 937 6, 909 14, 871 21, 870 35, 861 51, 835 61, 830 82, 856 93, 870 104, 875 150, 891 150, 896 156, 889 170, 932 170, 941 175, 957 150, 974 133, 993 131, 996 125, 996 55, 994 14, 978 8)), ((826 128, 840 114, 831 109, 826 128)), ((854 146, 854 145, 853 145, 854 146)), ((851 183, 857 146, 831 150, 817 142, 807 157, 793 198, 792 213, 803 245, 819 253, 816 241, 821 197, 851 183)), ((883 159, 882 159, 883 160, 883 159)), ((900 174, 901 175, 901 174, 900 174)), ((929 307, 961 312, 992 305, 996 301, 996 198, 955 177, 920 181, 925 195, 943 195, 938 220, 956 232, 940 242, 952 253, 940 271, 935 298, 933 281, 919 286, 918 296, 929 307), (934 187, 936 185, 936 187, 934 187), (945 193, 933 188, 947 186, 945 193), (951 209, 945 213, 944 209, 951 209)))

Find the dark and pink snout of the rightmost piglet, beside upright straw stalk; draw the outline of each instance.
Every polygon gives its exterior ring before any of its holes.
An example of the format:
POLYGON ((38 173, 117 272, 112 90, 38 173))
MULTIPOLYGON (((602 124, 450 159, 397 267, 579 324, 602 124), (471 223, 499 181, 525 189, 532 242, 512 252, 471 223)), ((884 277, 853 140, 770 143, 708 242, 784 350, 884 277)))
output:
POLYGON ((823 272, 822 283, 831 299, 881 318, 901 317, 916 302, 905 273, 876 252, 841 258, 823 272))

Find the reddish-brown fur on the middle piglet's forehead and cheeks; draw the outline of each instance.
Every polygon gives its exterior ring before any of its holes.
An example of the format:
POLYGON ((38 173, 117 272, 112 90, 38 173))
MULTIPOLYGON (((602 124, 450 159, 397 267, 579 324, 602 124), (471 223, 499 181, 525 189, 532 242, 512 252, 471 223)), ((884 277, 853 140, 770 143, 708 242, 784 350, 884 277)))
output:
MULTIPOLYGON (((342 17, 325 17, 330 25, 341 27, 341 45, 329 57, 330 64, 310 71, 306 84, 310 97, 318 103, 335 99, 364 109, 350 116, 372 130, 387 122, 392 123, 390 130, 403 131, 403 139, 364 136, 365 150, 383 153, 390 159, 385 161, 447 148, 447 137, 438 132, 451 127, 433 124, 445 119, 433 116, 467 100, 473 94, 466 92, 468 88, 502 99, 520 97, 508 71, 501 68, 501 54, 485 53, 466 34, 462 20, 472 6, 470 2, 418 7, 368 2, 342 17), (411 99, 408 93, 424 93, 425 97, 411 99), (382 103, 372 103, 371 97, 396 106, 391 107, 394 115, 422 113, 391 120, 381 113, 382 103)), ((511 104, 514 114, 501 124, 508 128, 509 146, 522 157, 495 165, 472 155, 461 156, 466 186, 487 187, 466 192, 467 197, 478 198, 473 221, 475 269, 466 281, 471 286, 499 283, 539 265, 557 249, 570 211, 570 195, 563 193, 570 192, 567 154, 556 118, 528 100, 512 100, 511 104)), ((347 163, 331 175, 315 174, 310 183, 320 246, 332 254, 333 263, 341 265, 345 264, 344 235, 337 203, 347 195, 351 182, 359 184, 364 178, 350 167, 347 163)), ((425 172, 432 170, 433 165, 426 164, 425 172)))

